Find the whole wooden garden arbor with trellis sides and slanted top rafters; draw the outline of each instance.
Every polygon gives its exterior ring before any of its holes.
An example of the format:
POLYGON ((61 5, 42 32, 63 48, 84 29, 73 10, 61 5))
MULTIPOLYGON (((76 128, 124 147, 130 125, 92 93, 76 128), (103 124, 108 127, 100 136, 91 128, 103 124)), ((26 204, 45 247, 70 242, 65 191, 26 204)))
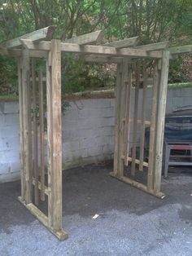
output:
POLYGON ((191 46, 168 48, 168 42, 138 46, 137 37, 101 44, 102 31, 61 42, 52 39, 53 33, 54 27, 50 26, 2 43, 0 54, 13 56, 18 63, 21 166, 19 200, 55 236, 64 240, 68 235, 62 229, 61 52, 79 54, 86 62, 117 63, 115 152, 114 170, 111 176, 163 198, 164 193, 160 192, 160 183, 169 59, 179 53, 191 51, 191 46), (43 79, 41 71, 37 76, 35 58, 46 60, 46 79, 43 79), (146 109, 148 85, 146 68, 142 70, 142 103, 139 98, 141 70, 138 63, 139 61, 145 63, 147 60, 153 61, 154 64, 150 121, 146 121, 146 111, 149 111, 146 109), (46 110, 43 104, 44 96, 46 96, 46 110), (132 99, 134 99, 133 104, 131 104, 132 99), (142 104, 140 119, 138 104, 142 104), (37 106, 39 118, 35 114, 37 106), (132 107, 133 117, 131 117, 132 107), (47 125, 43 118, 45 112, 47 125), (151 126, 148 161, 144 158, 146 126, 151 126), (45 130, 47 130, 47 173, 45 130), (141 135, 139 157, 137 157, 138 133, 141 135), (131 163, 132 178, 124 175, 124 166, 129 163, 131 163), (134 180, 137 166, 141 171, 143 167, 147 169, 146 184, 134 180), (46 176, 48 176, 47 180, 46 176), (38 207, 39 201, 45 200, 48 205, 47 214, 38 207))

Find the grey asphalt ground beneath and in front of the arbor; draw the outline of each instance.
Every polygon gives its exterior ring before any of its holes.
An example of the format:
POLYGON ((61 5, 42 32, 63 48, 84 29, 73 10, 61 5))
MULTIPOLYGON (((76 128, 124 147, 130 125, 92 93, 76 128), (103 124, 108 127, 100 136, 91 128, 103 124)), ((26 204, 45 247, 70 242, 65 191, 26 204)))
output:
POLYGON ((65 171, 63 229, 69 237, 63 242, 16 200, 19 182, 0 184, 0 255, 191 256, 192 172, 172 169, 160 200, 112 179, 111 169, 65 171))

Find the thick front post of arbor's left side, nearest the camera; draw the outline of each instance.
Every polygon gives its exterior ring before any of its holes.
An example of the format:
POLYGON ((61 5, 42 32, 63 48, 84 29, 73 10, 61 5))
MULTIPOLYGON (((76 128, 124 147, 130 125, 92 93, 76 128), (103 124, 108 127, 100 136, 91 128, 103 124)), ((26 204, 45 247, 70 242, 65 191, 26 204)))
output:
POLYGON ((62 228, 62 130, 60 41, 51 40, 47 72, 48 218, 54 230, 62 228))

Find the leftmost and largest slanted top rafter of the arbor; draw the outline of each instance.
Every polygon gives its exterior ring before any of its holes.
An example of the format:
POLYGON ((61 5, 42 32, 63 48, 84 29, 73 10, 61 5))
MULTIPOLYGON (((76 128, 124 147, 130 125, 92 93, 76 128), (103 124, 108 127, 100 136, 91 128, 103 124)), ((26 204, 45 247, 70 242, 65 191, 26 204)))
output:
POLYGON ((27 33, 19 38, 11 39, 10 41, 0 44, 4 48, 13 48, 22 46, 21 39, 30 39, 33 42, 39 42, 40 40, 50 40, 55 32, 55 26, 49 26, 44 29, 39 29, 33 31, 32 33, 27 33))

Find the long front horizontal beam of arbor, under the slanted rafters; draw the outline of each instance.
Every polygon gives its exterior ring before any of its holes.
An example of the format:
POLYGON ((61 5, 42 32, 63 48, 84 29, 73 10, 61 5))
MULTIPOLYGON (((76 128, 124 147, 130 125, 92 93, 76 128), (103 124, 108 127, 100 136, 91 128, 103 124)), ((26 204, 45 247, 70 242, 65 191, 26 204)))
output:
MULTIPOLYGON (((50 42, 41 41, 37 44, 34 44, 32 41, 26 41, 22 39, 22 42, 25 43, 28 50, 42 50, 50 51, 50 42)), ((61 51, 65 52, 77 52, 85 54, 98 54, 98 55, 111 55, 112 56, 129 56, 129 57, 151 57, 151 58, 161 58, 161 51, 149 51, 133 48, 123 48, 116 49, 115 47, 109 46, 80 46, 76 43, 65 43, 61 42, 61 51)))

